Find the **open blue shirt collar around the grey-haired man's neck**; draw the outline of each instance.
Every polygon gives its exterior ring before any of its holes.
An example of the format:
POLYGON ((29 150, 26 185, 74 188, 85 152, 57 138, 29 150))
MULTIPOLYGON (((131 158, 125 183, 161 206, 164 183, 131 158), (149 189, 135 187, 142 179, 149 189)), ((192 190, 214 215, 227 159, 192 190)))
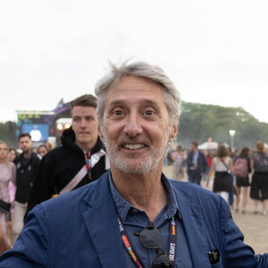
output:
MULTIPOLYGON (((109 179, 109 184, 110 184, 111 192, 113 195, 113 201, 114 201, 114 204, 116 206, 116 209, 117 209, 118 213, 120 214, 122 221, 125 221, 130 209, 133 209, 135 207, 130 205, 130 203, 127 200, 125 200, 123 197, 121 197, 121 194, 114 187, 111 171, 108 172, 108 179, 109 179)), ((163 187, 165 188, 165 191, 167 193, 167 199, 168 199, 168 201, 167 201, 167 215, 168 215, 168 217, 172 218, 172 216, 174 216, 176 213, 178 213, 178 215, 180 217, 179 205, 177 203, 171 182, 164 176, 163 173, 161 175, 161 181, 162 181, 163 187)), ((181 217, 180 217, 180 219, 181 219, 181 217)))

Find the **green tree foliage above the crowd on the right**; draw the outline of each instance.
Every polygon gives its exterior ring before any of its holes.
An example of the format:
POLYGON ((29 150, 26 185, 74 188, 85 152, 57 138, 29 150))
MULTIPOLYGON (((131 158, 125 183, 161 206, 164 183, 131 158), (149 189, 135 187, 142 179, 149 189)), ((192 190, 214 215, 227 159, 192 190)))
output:
POLYGON ((236 130, 235 147, 255 147, 257 140, 265 142, 268 138, 268 124, 256 120, 242 107, 183 102, 177 140, 184 147, 193 140, 201 144, 209 137, 230 144, 229 130, 236 130))

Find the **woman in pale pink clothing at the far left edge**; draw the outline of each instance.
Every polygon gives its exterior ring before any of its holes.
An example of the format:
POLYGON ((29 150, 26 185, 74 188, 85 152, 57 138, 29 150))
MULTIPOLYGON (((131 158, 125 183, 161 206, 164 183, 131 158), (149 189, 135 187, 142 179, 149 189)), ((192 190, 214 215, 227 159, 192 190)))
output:
MULTIPOLYGON (((9 203, 8 185, 10 181, 15 184, 16 166, 9 161, 9 148, 4 141, 0 140, 0 199, 9 203)), ((6 234, 6 214, 0 212, 0 227, 4 239, 4 248, 10 249, 11 245, 6 234)), ((2 247, 3 248, 3 247, 2 247)))

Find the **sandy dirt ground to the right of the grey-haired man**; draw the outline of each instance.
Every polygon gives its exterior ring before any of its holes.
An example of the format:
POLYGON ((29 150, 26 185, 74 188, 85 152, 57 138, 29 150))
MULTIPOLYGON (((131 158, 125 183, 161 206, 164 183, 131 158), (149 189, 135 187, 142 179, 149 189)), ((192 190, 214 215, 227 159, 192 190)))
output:
MULTIPOLYGON (((172 178, 172 166, 163 166, 163 172, 168 178, 172 178)), ((183 180, 186 180, 186 176, 183 180)), ((244 234, 245 243, 253 247, 256 254, 268 252, 268 215, 253 214, 254 204, 250 198, 247 203, 247 214, 236 213, 232 207, 230 210, 234 221, 244 234)))

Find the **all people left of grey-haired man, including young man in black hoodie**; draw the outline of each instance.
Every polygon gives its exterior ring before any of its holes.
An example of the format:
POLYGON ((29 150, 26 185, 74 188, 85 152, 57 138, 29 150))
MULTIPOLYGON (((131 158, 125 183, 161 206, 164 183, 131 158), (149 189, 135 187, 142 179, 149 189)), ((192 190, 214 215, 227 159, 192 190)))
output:
POLYGON ((21 133, 18 148, 0 141, 0 199, 10 205, 7 210, 0 207, 1 252, 12 248, 35 205, 86 185, 108 170, 105 147, 97 135, 96 97, 74 99, 71 116, 72 127, 63 131, 60 147, 48 141, 34 147, 30 133, 21 133))

